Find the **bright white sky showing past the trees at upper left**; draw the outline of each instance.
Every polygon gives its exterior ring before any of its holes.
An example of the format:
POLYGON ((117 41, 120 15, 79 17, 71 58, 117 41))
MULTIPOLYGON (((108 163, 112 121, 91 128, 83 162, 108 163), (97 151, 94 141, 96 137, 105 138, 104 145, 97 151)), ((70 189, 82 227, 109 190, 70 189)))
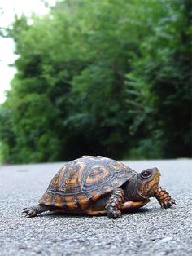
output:
MULTIPOLYGON (((46 0, 50 5, 54 5, 56 0, 46 0)), ((49 11, 41 0, 6 0, 0 2, 0 27, 9 26, 14 15, 30 16, 32 13, 45 15, 49 11)), ((14 55, 14 42, 11 38, 0 38, 0 104, 6 99, 5 90, 10 89, 10 82, 15 68, 9 67, 16 59, 14 55)))

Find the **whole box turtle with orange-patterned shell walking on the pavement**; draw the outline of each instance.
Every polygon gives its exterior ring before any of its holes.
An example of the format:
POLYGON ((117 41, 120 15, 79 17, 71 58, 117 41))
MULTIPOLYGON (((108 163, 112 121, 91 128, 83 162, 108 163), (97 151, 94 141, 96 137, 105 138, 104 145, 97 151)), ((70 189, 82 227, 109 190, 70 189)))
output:
POLYGON ((119 218, 122 212, 146 205, 155 197, 162 208, 176 201, 159 186, 158 168, 137 173, 120 161, 82 156, 66 163, 50 181, 37 205, 24 208, 26 217, 45 211, 119 218))

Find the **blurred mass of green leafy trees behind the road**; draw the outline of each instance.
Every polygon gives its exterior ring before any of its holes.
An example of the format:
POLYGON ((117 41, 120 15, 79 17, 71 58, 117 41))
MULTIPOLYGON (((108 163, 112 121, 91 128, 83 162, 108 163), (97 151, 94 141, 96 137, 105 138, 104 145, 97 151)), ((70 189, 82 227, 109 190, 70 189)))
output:
POLYGON ((191 157, 190 0, 68 0, 15 17, 2 161, 191 157))

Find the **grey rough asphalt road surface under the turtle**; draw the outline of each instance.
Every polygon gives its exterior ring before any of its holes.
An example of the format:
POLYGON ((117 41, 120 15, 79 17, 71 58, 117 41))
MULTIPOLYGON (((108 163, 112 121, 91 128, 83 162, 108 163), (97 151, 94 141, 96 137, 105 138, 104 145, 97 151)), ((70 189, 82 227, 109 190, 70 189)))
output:
POLYGON ((160 184, 177 205, 152 199, 142 210, 112 220, 44 213, 24 218, 63 163, 0 166, 0 255, 192 255, 192 160, 129 161, 134 170, 157 166, 160 184))

